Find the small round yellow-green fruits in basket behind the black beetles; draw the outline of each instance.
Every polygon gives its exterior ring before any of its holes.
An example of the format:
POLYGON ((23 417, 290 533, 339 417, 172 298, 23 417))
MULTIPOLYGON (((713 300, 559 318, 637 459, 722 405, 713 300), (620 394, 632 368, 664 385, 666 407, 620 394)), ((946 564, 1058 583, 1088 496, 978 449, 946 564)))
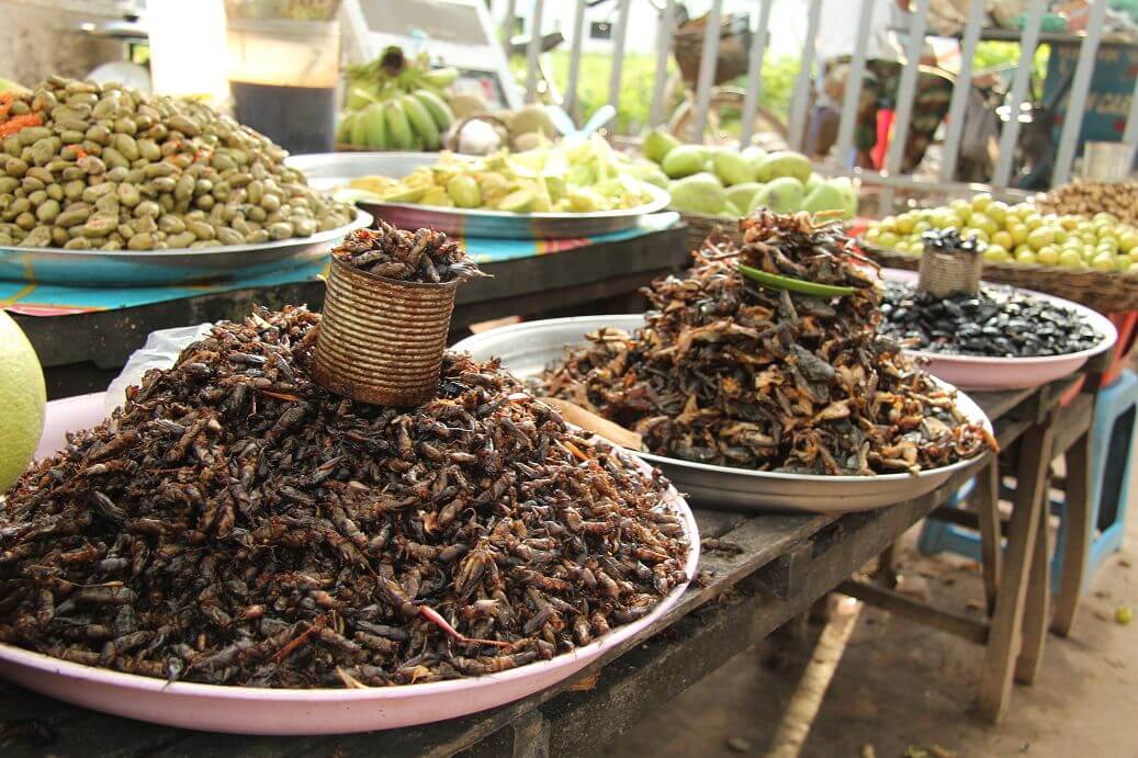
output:
POLYGON ((993 263, 1138 272, 1138 229, 1118 216, 1040 213, 1032 203, 1009 206, 987 193, 887 216, 869 224, 864 238, 874 247, 920 256, 921 234, 948 226, 986 242, 984 259, 993 263))

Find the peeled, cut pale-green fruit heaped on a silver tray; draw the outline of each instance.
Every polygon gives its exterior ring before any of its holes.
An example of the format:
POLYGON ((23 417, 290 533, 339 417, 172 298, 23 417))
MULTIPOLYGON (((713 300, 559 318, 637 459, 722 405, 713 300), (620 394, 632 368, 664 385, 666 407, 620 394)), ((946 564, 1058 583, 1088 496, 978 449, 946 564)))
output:
POLYGON ((437 207, 481 208, 510 213, 595 213, 635 208, 652 200, 644 182, 629 171, 628 158, 601 137, 576 145, 479 158, 444 151, 432 166, 402 179, 353 180, 353 199, 413 203, 437 207))

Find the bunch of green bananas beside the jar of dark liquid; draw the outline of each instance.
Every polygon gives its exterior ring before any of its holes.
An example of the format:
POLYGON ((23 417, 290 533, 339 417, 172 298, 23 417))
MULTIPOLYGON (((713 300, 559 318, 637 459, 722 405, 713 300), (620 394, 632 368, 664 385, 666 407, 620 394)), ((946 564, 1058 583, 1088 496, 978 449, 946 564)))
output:
POLYGON ((438 150, 454 114, 444 89, 455 68, 431 69, 427 56, 410 60, 390 47, 347 71, 347 109, 336 141, 370 150, 438 150))

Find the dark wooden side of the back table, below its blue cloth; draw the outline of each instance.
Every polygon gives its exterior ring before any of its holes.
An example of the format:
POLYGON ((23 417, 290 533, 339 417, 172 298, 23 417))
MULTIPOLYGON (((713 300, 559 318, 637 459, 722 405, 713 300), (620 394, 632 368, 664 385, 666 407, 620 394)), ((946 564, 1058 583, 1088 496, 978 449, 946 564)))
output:
MULTIPOLYGON (((630 296, 662 273, 691 262, 683 225, 629 240, 485 264, 493 279, 459 289, 452 329, 508 315, 571 310, 626 313, 643 310, 630 296)), ((68 397, 106 388, 148 333, 224 319, 240 320, 254 305, 307 304, 320 310, 324 283, 304 281, 231 290, 116 311, 58 316, 16 315, 32 341, 48 381, 48 397, 68 397)))

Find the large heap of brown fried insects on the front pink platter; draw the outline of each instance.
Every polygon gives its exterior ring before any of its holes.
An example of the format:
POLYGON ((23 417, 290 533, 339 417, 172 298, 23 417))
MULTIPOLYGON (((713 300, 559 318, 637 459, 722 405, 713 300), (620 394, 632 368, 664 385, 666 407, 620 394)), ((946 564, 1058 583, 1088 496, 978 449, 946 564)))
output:
POLYGON ((319 321, 218 324, 28 471, 0 640, 168 679, 409 684, 551 658, 685 580, 665 480, 469 356, 418 407, 331 395, 319 321))

